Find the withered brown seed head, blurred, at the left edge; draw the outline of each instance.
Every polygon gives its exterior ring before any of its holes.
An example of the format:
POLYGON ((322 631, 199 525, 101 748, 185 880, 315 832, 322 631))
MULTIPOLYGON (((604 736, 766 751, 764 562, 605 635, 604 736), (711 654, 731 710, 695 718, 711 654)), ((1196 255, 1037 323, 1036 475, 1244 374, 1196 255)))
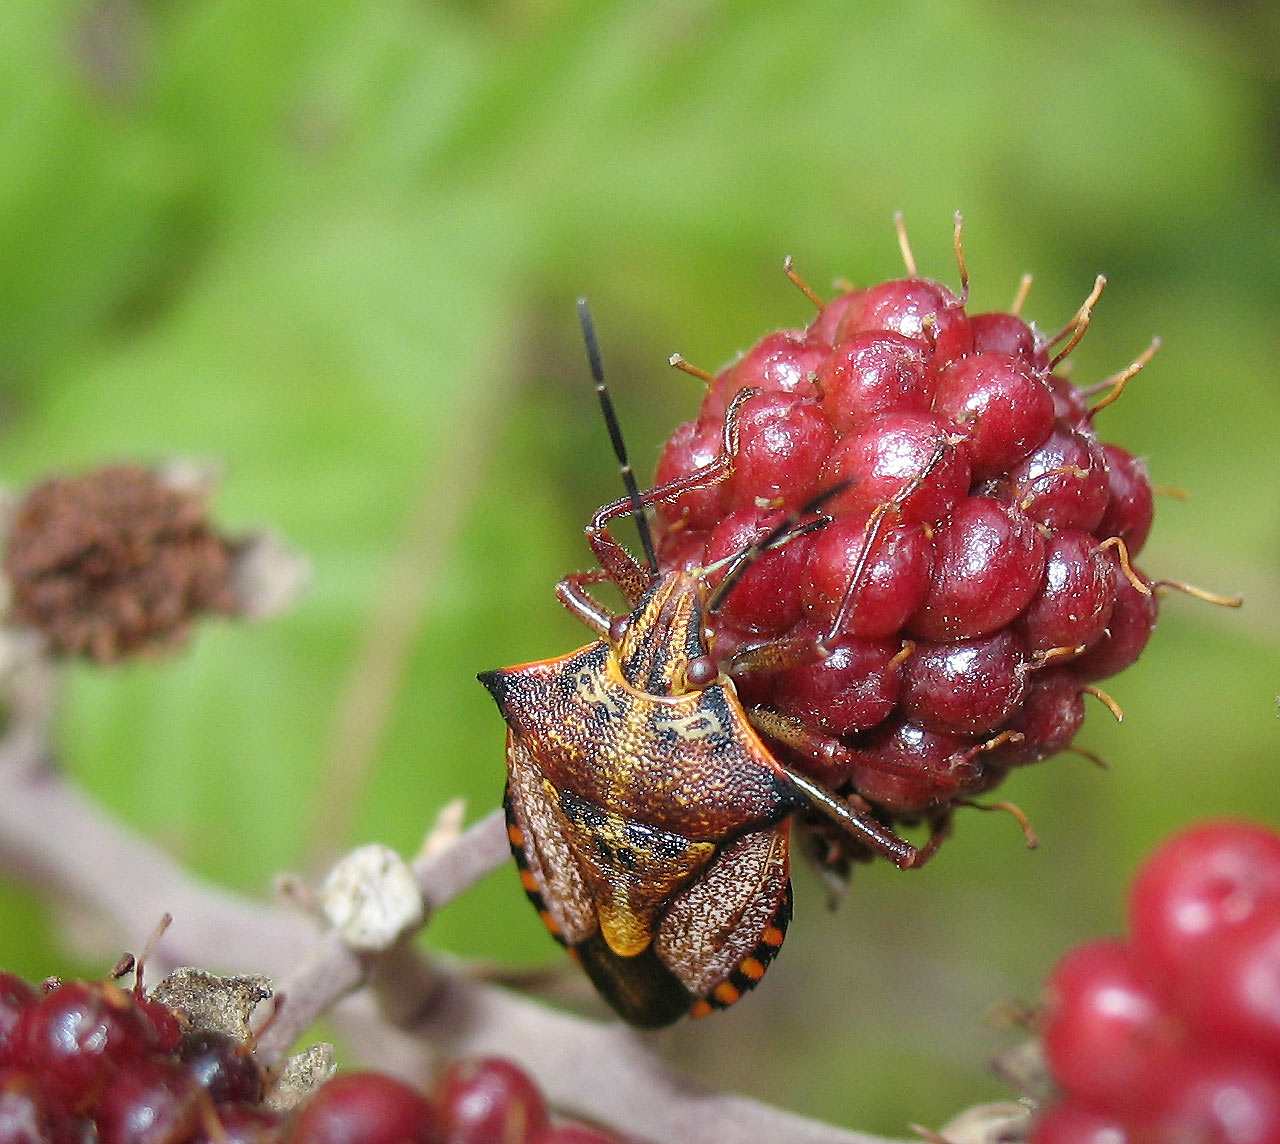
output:
POLYGON ((100 663, 177 646, 201 612, 234 612, 232 550, 198 494, 115 465, 36 485, 14 511, 10 622, 100 663))

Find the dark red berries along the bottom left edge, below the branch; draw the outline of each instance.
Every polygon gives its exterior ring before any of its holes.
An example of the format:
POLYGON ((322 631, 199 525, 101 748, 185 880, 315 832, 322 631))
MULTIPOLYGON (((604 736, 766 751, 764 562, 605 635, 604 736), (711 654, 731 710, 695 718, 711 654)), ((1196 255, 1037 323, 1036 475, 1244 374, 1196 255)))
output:
POLYGON ((300 1108, 264 1103, 252 1047, 114 981, 41 992, 0 973, 0 1144, 618 1144, 552 1125, 517 1066, 456 1062, 433 1098, 342 1074, 300 1108))

